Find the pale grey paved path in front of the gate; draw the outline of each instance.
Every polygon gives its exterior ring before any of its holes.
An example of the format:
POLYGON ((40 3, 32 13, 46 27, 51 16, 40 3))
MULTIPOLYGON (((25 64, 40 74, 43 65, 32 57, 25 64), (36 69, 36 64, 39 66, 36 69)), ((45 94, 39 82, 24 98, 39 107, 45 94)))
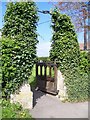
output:
POLYGON ((58 98, 34 91, 34 118, 88 118, 88 102, 62 103, 58 98))

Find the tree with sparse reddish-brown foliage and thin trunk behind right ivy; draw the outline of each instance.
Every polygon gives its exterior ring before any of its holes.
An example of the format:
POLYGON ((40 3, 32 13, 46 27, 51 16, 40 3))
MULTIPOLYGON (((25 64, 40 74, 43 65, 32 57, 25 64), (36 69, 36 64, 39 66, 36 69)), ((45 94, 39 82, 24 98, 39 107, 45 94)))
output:
POLYGON ((90 30, 87 19, 90 18, 89 2, 58 2, 56 5, 61 12, 69 15, 76 31, 84 30, 84 50, 87 50, 87 31, 90 30))

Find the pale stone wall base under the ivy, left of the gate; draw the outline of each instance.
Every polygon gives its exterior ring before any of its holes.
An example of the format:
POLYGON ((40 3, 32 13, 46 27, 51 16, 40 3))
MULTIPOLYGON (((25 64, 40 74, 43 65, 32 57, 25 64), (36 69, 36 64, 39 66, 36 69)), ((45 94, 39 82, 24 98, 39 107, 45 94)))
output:
POLYGON ((10 96, 11 103, 19 102, 23 108, 32 109, 33 108, 33 92, 31 91, 30 85, 24 83, 19 92, 11 94, 10 96))

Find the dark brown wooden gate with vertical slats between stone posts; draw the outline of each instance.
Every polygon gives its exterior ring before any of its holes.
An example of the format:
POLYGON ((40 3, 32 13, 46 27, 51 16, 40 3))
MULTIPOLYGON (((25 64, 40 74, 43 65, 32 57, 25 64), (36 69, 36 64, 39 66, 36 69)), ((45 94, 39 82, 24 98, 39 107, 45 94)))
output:
POLYGON ((51 94, 58 94, 57 91, 57 65, 53 63, 36 63, 36 80, 39 90, 51 94))

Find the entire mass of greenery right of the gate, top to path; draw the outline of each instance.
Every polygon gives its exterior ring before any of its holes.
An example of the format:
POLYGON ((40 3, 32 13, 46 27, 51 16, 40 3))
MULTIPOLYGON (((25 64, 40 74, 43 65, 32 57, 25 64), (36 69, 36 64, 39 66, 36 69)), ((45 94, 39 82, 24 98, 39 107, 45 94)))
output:
POLYGON ((52 12, 53 37, 50 58, 58 63, 65 76, 65 85, 69 101, 88 99, 88 60, 86 53, 81 53, 74 25, 70 18, 55 9, 52 12))

